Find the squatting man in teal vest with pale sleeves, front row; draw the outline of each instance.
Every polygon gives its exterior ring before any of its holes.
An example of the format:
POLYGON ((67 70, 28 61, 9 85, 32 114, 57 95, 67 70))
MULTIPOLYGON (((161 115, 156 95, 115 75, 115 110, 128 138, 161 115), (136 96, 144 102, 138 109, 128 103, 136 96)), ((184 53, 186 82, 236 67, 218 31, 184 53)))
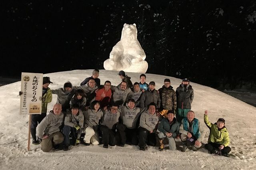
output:
POLYGON ((201 141, 205 136, 205 131, 200 121, 195 118, 193 111, 188 111, 187 117, 182 119, 179 132, 183 145, 182 152, 185 152, 190 145, 193 151, 197 151, 197 148, 202 146, 201 141))

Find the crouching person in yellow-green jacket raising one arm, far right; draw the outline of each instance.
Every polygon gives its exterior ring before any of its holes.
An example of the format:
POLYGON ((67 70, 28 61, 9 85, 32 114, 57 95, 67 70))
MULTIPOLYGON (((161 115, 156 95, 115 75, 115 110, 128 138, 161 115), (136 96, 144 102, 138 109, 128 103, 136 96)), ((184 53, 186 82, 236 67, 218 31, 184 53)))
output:
POLYGON ((225 127, 225 120, 220 118, 217 123, 210 123, 208 121, 208 111, 206 110, 204 111, 204 123, 210 128, 208 143, 205 144, 204 147, 209 153, 229 157, 228 153, 231 151, 231 148, 228 146, 230 138, 228 130, 225 127))

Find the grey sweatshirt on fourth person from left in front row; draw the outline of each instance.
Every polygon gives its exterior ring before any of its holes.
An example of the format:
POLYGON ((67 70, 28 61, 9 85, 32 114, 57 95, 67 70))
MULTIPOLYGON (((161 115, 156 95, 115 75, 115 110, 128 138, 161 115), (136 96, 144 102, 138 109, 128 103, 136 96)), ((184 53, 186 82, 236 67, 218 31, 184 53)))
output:
POLYGON ((115 129, 116 123, 120 117, 120 112, 113 114, 110 110, 103 111, 103 118, 101 119, 101 125, 108 127, 109 129, 115 129))

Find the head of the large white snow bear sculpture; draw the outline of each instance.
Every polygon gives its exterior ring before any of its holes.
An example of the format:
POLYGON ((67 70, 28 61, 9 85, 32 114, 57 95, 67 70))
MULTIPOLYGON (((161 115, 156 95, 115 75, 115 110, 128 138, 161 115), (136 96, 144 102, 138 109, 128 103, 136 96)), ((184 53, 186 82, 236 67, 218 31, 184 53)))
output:
POLYGON ((122 29, 121 40, 137 40, 136 24, 124 24, 124 27, 122 29))

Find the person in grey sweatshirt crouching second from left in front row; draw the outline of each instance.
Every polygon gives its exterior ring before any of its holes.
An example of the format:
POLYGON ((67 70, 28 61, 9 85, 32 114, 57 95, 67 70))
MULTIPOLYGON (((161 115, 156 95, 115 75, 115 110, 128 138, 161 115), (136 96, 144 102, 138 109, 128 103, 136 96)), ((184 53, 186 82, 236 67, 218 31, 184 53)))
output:
POLYGON ((71 110, 67 111, 65 121, 64 121, 64 127, 62 130, 62 133, 64 134, 64 146, 63 150, 68 150, 68 146, 70 145, 70 138, 69 134, 71 132, 73 140, 73 143, 75 145, 80 144, 80 136, 82 134, 82 129, 84 126, 84 115, 82 113, 82 110, 79 109, 78 104, 74 104, 71 106, 71 110))

